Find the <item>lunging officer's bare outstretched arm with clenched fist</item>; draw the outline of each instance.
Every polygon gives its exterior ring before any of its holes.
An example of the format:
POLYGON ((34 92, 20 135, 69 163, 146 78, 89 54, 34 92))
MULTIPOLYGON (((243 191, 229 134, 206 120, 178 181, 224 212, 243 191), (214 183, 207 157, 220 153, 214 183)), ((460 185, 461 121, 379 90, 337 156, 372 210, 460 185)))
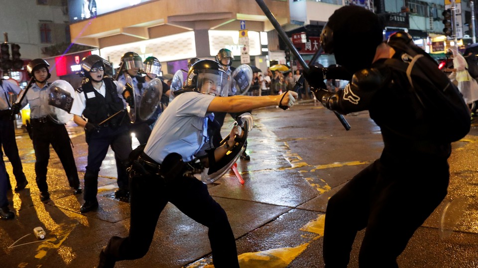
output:
POLYGON ((208 112, 239 113, 267 106, 291 107, 297 99, 297 93, 286 91, 275 96, 231 96, 215 97, 209 104, 208 112))

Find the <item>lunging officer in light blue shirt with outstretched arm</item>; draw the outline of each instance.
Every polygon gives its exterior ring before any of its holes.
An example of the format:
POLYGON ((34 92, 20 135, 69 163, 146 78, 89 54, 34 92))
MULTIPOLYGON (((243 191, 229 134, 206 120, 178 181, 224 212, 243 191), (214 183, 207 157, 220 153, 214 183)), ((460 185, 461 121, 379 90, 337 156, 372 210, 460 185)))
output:
MULTIPOLYGON (((297 93, 279 96, 227 96, 228 75, 219 63, 203 60, 188 73, 186 86, 159 117, 144 152, 130 172, 131 223, 127 238, 113 237, 100 254, 98 267, 114 267, 116 261, 144 256, 151 244, 159 214, 167 202, 209 227, 214 266, 239 268, 234 234, 224 209, 195 177, 185 175, 184 162, 200 157, 214 166, 235 146, 239 128, 229 140, 214 148, 209 128, 216 112, 239 112, 271 105, 291 106, 297 93), (154 206, 151 206, 151 204, 154 206)), ((138 147, 139 148, 139 147, 138 147)))

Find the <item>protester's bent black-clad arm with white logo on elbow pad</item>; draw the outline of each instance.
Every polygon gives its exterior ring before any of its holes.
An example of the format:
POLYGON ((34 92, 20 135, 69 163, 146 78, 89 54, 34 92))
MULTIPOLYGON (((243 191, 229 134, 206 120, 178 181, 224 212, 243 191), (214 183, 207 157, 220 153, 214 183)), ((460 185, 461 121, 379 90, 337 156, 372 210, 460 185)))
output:
POLYGON ((388 68, 369 68, 358 71, 345 89, 336 93, 324 88, 312 88, 317 100, 327 109, 340 114, 367 110, 375 92, 389 81, 388 68))

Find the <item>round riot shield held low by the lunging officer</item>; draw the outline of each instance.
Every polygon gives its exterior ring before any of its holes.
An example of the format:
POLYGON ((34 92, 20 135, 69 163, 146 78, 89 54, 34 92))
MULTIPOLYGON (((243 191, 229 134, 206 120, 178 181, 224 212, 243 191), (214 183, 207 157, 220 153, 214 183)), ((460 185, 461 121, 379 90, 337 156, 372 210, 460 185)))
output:
MULTIPOLYGON (((201 181, 205 184, 210 184, 217 181, 224 174, 229 172, 234 163, 239 159, 240 154, 245 150, 244 143, 247 139, 249 131, 252 130, 253 120, 252 115, 249 113, 243 113, 236 119, 239 126, 242 128, 244 134, 240 140, 236 141, 236 146, 232 151, 229 151, 221 160, 216 162, 216 165, 204 168, 201 173, 201 181)), ((221 141, 221 145, 229 140, 229 135, 221 141)))

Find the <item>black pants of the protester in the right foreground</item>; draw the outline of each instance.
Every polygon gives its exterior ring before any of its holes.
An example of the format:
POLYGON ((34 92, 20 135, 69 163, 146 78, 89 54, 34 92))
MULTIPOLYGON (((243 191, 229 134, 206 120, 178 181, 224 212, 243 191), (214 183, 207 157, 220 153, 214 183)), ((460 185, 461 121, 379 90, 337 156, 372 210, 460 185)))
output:
POLYGON ((446 159, 384 164, 376 160, 328 202, 324 230, 326 268, 346 268, 359 230, 365 236, 359 267, 398 267, 396 258, 415 230, 447 195, 446 159))

